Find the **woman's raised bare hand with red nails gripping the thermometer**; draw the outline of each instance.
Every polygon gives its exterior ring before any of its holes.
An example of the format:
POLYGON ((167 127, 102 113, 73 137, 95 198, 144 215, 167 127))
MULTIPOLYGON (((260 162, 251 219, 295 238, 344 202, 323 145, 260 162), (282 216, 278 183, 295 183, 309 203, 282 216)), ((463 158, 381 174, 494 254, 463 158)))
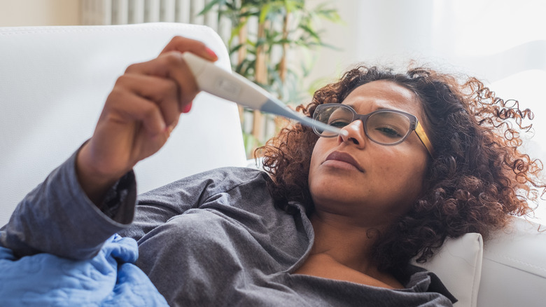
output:
POLYGON ((218 60, 204 43, 176 36, 157 58, 130 65, 116 81, 76 159, 80 185, 95 204, 134 165, 157 152, 180 114, 190 111, 199 90, 181 57, 186 51, 218 60))

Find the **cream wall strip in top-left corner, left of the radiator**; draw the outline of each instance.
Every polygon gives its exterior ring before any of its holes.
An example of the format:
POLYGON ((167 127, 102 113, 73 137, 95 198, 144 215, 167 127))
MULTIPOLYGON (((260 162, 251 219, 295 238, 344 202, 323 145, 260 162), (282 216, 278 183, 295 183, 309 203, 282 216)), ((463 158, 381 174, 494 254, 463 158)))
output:
POLYGON ((0 0, 0 27, 80 25, 79 0, 0 0))

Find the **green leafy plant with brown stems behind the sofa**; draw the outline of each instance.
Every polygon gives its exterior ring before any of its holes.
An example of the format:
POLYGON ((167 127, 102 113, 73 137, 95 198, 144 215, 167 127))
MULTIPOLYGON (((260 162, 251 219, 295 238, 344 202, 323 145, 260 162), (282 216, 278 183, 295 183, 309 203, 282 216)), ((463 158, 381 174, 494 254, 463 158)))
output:
MULTIPOLYGON (((309 1, 307 1, 309 3, 309 1)), ((309 93, 304 88, 304 80, 309 76, 311 67, 316 64, 315 55, 318 48, 339 48, 323 41, 324 20, 340 22, 339 13, 328 3, 319 4, 314 8, 306 6, 304 0, 211 0, 201 14, 216 9, 218 15, 232 20, 232 32, 228 39, 230 55, 235 55, 246 49, 246 57, 240 63, 233 64, 233 70, 248 80, 277 95, 287 104, 300 104, 309 99, 309 93), (216 8, 215 8, 216 5, 216 8), (283 22, 288 14, 287 36, 283 35, 283 22), (255 33, 257 23, 265 25, 263 37, 255 33), (246 41, 239 41, 239 32, 246 27, 246 41), (284 82, 280 76, 280 57, 283 47, 288 47, 286 75, 284 82), (264 48, 268 55, 266 61, 266 84, 255 82, 255 64, 258 48, 264 48), (295 57, 292 57, 295 55, 295 57), (302 59, 302 60, 294 60, 302 59)), ((232 56, 235 59, 235 56, 232 56)), ((248 150, 264 144, 265 139, 255 139, 245 132, 244 140, 248 150)), ((266 136, 267 137, 267 136, 266 136)), ((247 151, 251 156, 252 153, 247 151)))

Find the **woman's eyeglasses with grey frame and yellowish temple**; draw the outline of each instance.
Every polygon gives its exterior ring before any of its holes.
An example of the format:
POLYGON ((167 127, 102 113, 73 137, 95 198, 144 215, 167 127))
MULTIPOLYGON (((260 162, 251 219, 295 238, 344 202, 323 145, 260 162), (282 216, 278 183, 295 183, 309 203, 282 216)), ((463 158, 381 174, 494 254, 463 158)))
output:
MULTIPOLYGON (((327 125, 343 128, 353 121, 360 119, 364 126, 364 133, 368 139, 377 144, 392 146, 404 142, 415 130, 416 135, 425 145, 430 156, 433 156, 433 146, 426 136, 425 130, 417 118, 398 110, 377 110, 370 114, 357 114, 346 104, 319 104, 313 114, 316 121, 327 125)), ((321 137, 337 137, 337 134, 313 128, 321 137)))

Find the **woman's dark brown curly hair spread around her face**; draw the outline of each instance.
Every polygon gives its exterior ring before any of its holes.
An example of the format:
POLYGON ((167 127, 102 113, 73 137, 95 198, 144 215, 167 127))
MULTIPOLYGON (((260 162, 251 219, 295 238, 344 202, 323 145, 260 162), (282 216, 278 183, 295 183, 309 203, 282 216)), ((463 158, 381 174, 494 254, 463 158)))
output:
MULTIPOLYGON (((435 148, 422 196, 379 234, 373 255, 379 269, 398 271, 414 257, 425 262, 447 237, 475 232, 487 238, 506 226, 510 215, 532 211, 528 202, 542 196, 546 186, 539 177, 542 163, 521 151, 519 131, 531 128, 522 120, 532 119, 533 113, 520 110, 517 101, 496 97, 475 78, 460 83, 433 69, 395 73, 359 66, 317 90, 297 110, 312 117, 318 104, 341 103, 358 86, 378 80, 405 87, 419 98, 423 125, 435 148)), ((288 212, 288 201, 302 203, 308 215, 314 211, 308 175, 317 139, 310 128, 295 124, 255 151, 272 177, 272 196, 288 212)))

